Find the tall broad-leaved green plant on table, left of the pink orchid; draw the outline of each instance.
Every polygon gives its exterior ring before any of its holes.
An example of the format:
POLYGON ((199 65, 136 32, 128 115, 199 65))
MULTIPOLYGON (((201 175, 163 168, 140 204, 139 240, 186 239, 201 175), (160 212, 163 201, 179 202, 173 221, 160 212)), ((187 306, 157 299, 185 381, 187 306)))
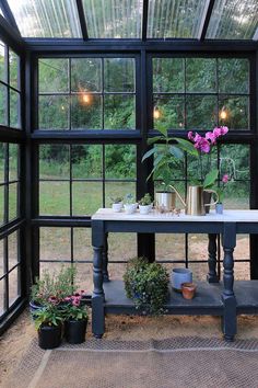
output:
POLYGON ((154 145, 148 150, 143 157, 142 162, 154 157, 153 169, 148 176, 148 180, 153 175, 156 180, 162 180, 164 190, 169 191, 169 185, 173 180, 173 170, 178 170, 181 164, 184 152, 198 156, 194 145, 178 137, 169 137, 167 129, 161 123, 159 124, 159 136, 149 138, 148 144, 154 145), (157 145, 157 142, 161 142, 157 145))

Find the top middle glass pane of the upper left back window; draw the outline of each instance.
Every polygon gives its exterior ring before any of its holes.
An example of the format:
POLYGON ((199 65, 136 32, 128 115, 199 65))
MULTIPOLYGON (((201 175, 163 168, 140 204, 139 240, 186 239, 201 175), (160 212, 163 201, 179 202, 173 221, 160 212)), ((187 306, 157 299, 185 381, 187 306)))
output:
POLYGON ((102 91, 102 59, 71 59, 71 90, 73 92, 102 91))

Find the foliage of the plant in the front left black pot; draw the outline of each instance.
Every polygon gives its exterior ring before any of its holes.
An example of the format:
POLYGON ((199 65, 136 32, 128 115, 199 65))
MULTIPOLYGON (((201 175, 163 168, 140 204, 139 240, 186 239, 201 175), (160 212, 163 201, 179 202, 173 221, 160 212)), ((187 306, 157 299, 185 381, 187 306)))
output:
POLYGON ((36 330, 43 326, 59 326, 63 322, 63 311, 50 303, 43 309, 33 312, 32 316, 36 330))

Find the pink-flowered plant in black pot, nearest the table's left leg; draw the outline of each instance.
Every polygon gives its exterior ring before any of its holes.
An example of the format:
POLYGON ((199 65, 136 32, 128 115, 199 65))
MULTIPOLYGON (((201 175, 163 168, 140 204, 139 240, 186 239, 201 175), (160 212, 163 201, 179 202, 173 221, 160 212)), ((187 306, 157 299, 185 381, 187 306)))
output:
POLYGON ((64 336, 69 343, 82 343, 85 341, 87 326, 87 308, 82 304, 80 294, 67 297, 64 310, 64 336))

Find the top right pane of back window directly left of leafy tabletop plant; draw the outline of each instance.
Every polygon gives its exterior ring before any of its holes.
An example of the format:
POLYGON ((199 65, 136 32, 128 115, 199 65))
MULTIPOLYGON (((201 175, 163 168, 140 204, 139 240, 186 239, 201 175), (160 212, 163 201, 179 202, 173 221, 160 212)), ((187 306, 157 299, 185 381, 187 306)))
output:
POLYGON ((136 146, 105 146, 105 176, 106 179, 136 179, 137 155, 136 146))

